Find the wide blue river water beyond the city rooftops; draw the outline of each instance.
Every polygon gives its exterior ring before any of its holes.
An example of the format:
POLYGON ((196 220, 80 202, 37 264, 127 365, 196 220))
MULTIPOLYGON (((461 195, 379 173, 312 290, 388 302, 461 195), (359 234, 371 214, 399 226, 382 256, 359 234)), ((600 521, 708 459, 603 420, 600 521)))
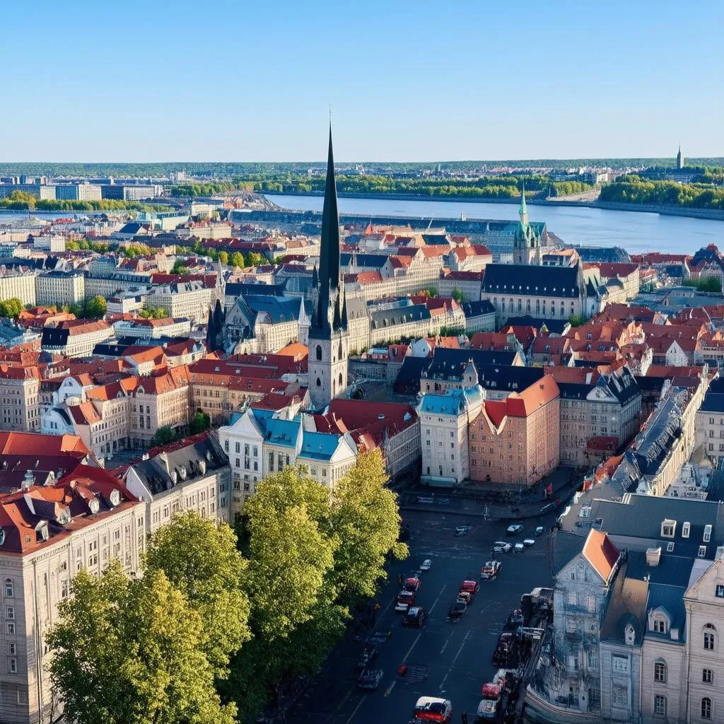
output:
MULTIPOLYGON (((321 211, 321 196, 269 195, 285 209, 321 211)), ((340 198, 340 213, 379 216, 440 216, 468 219, 518 219, 513 203, 474 201, 395 201, 383 198, 340 198)), ((707 244, 724 248, 724 222, 661 216, 639 211, 607 211, 586 206, 528 206, 531 221, 546 222, 548 230, 570 244, 620 246, 629 253, 661 251, 691 253, 707 244)))

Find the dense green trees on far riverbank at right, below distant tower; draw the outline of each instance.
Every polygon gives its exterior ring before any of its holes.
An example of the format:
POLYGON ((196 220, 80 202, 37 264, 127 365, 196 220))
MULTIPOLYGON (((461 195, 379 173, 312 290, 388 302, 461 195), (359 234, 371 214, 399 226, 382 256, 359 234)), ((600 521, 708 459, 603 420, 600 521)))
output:
POLYGON ((630 174, 601 189, 600 201, 724 209, 724 189, 675 181, 649 181, 630 174))

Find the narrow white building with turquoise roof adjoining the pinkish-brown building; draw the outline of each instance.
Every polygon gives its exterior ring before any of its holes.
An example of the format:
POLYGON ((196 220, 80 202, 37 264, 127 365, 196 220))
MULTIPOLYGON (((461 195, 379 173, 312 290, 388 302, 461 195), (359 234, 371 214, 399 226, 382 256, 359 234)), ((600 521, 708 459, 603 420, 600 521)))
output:
MULTIPOLYGON (((466 382, 472 382, 471 375, 466 382)), ((470 478, 468 430, 479 416, 483 400, 479 384, 427 392, 422 397, 418 415, 423 484, 455 487, 470 478)))

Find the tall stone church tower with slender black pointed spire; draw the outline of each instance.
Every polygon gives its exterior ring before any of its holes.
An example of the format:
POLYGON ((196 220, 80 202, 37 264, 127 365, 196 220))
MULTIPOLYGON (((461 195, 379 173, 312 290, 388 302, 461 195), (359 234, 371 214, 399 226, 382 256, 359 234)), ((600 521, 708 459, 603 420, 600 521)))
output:
MULTIPOLYGON (((333 397, 347 390, 347 300, 340 275, 340 219, 337 212, 337 185, 334 182, 332 127, 329 127, 327 185, 321 216, 319 274, 309 324, 309 395, 313 408, 325 408, 333 397)), ((313 290, 314 291, 314 290, 313 290)))

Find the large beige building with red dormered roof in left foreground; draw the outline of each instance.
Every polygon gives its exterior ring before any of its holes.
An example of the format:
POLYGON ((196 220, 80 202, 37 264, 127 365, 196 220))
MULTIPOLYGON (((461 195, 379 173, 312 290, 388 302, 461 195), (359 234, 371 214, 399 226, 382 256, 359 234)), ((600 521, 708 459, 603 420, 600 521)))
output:
POLYGON ((59 702, 41 634, 81 568, 98 575, 116 557, 127 573, 140 570, 145 506, 122 481, 92 466, 77 437, 0 433, 0 451, 7 463, 0 471, 2 716, 49 722, 58 717, 59 702))

